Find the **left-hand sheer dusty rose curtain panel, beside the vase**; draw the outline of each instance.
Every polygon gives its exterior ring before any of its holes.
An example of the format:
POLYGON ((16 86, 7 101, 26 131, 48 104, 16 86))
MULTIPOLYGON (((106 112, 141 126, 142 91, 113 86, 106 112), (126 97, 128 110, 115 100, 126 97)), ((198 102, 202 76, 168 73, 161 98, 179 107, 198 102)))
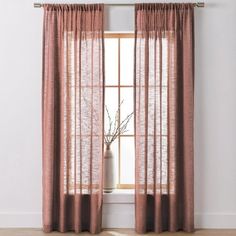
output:
POLYGON ((98 233, 103 5, 44 5, 43 229, 98 233))

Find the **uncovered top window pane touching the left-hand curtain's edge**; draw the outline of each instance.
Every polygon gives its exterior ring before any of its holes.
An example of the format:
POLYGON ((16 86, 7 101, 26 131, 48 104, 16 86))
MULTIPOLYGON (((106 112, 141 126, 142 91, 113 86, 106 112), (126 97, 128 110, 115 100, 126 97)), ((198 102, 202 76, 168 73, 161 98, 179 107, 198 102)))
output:
POLYGON ((105 39, 105 83, 118 85, 118 39, 105 39))

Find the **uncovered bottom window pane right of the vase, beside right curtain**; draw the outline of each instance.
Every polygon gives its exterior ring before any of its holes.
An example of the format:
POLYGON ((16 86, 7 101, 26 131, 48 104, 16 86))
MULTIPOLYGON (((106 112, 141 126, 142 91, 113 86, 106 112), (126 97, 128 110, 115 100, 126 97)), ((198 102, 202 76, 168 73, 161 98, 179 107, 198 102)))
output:
POLYGON ((121 137, 120 144, 120 182, 121 184, 134 184, 134 137, 121 137))

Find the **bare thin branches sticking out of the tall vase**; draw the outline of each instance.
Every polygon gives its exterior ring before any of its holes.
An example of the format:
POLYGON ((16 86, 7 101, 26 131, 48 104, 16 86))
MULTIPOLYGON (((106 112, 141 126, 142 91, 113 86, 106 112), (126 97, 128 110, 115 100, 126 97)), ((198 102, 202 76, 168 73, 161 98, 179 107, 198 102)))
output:
POLYGON ((112 142, 114 142, 119 135, 124 134, 128 131, 127 125, 129 124, 129 121, 134 114, 134 112, 130 113, 128 116, 126 116, 126 118, 123 121, 119 122, 120 108, 121 105, 123 104, 123 101, 124 100, 122 100, 122 102, 118 106, 114 120, 112 120, 107 106, 105 107, 106 114, 109 120, 109 128, 107 131, 105 131, 104 142, 108 146, 111 145, 112 142))

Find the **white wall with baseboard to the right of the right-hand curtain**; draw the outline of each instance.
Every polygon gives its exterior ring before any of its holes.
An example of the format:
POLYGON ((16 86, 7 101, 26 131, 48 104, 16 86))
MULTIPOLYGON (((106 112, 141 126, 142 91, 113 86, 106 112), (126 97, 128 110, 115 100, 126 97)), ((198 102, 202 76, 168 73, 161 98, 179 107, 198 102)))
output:
POLYGON ((236 228, 236 1, 206 2, 195 34, 196 220, 236 228))

